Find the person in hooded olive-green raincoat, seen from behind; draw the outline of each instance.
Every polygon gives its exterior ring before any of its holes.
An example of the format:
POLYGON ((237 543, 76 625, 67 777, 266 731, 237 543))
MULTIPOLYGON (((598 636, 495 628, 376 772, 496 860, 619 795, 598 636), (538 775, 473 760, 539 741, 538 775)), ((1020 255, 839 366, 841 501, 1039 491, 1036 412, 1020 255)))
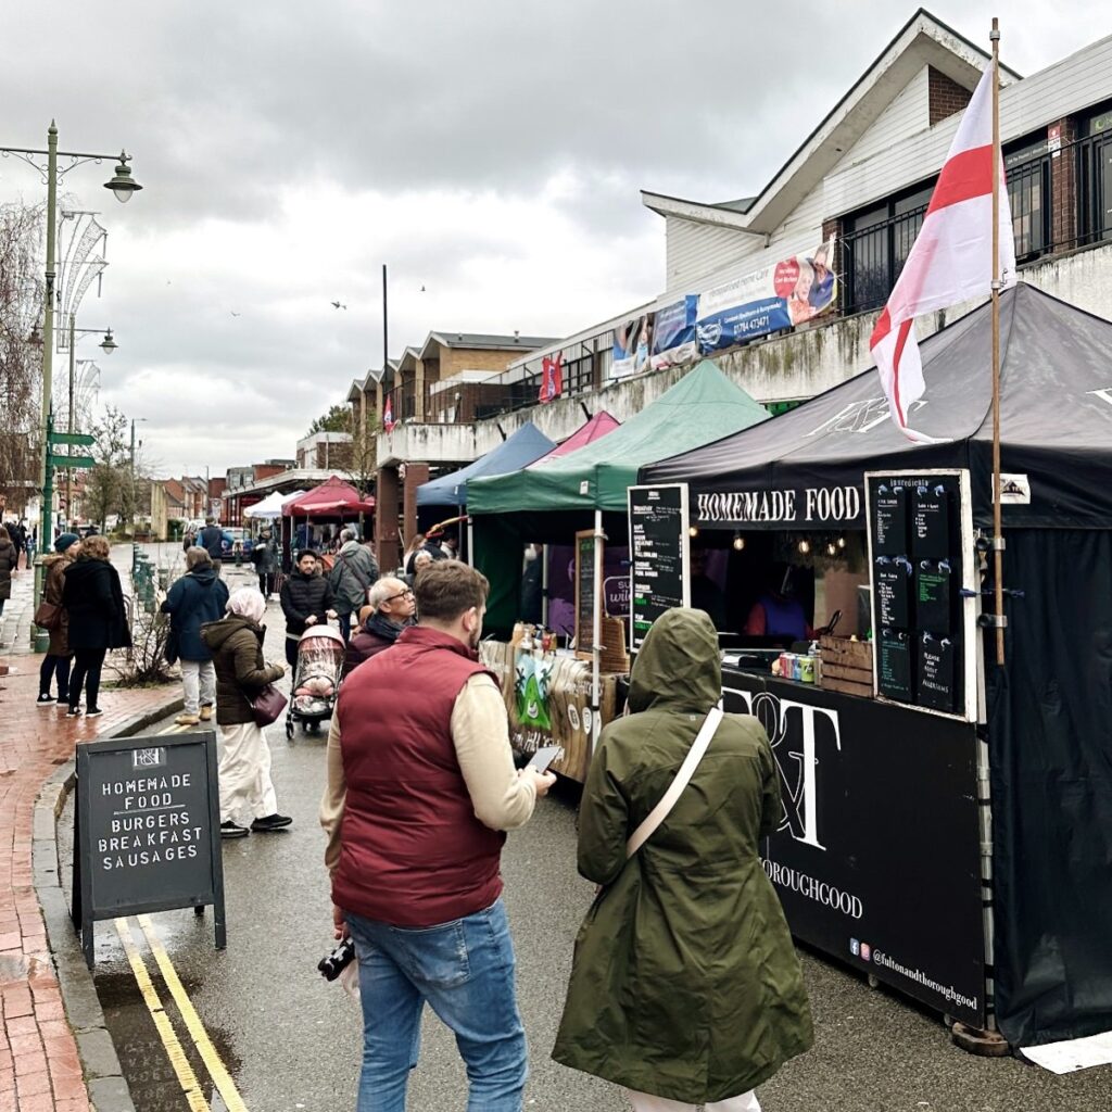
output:
POLYGON ((637 1112, 759 1112, 755 1086, 813 1041, 800 961, 757 846, 782 820, 756 718, 726 715, 672 812, 626 863, 722 696, 702 610, 664 614, 602 733, 579 806, 579 929, 553 1058, 625 1085, 637 1112))

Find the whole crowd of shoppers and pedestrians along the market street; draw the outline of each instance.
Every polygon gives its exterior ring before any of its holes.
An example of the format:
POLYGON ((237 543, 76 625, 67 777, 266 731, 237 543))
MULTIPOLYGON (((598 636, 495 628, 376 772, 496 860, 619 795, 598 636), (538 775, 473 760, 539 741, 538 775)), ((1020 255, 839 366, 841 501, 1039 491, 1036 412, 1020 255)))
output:
MULTIPOLYGON (((10 534, 0 527, 0 610, 20 555, 10 534)), ((426 1004, 455 1034, 467 1108, 522 1112, 527 1044, 500 855, 556 777, 517 767, 499 682, 479 659, 489 584, 435 535, 381 576, 347 528, 332 554, 298 550, 280 585, 282 664, 262 649, 280 568, 269 535, 252 552, 258 587, 231 593, 219 527, 187 540, 161 609, 181 667, 177 722, 218 731, 221 837, 291 823, 265 734, 287 667, 291 698, 328 702, 319 818, 332 926, 351 944, 364 1015, 357 1112, 405 1112, 426 1004), (342 674, 302 687, 305 646, 329 622, 342 674)), ((120 580, 105 538, 64 533, 53 547, 36 614, 50 631, 39 703, 77 715, 83 694, 93 716, 106 654, 129 644, 120 580)), ((552 1054, 624 1086, 636 1112, 759 1112, 756 1086, 813 1039, 758 856, 782 817, 775 763, 755 718, 718 709, 721 693, 713 623, 667 612, 637 654, 625 716, 598 738, 579 806, 578 867, 597 891, 552 1054)))

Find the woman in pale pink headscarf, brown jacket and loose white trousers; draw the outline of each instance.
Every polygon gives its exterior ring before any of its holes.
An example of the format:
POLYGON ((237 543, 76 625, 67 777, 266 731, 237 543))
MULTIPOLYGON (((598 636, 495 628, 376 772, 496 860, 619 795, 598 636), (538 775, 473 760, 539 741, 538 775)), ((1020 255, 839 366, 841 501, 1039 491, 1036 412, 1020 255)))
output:
POLYGON ((262 657, 267 604, 254 587, 228 599, 227 616, 201 626, 201 641, 216 668, 216 722, 220 729, 220 836, 246 837, 279 831, 294 821, 278 814, 270 778, 270 746, 255 722, 251 701, 286 669, 262 657), (247 824, 250 823, 250 826, 247 824))

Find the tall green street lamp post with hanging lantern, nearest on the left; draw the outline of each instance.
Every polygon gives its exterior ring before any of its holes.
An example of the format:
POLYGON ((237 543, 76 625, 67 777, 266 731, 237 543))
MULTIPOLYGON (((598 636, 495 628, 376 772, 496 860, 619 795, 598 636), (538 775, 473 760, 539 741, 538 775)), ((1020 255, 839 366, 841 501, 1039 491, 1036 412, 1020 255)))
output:
MULTIPOLYGON (((49 428, 51 423, 50 391, 53 386, 53 350, 54 350, 54 279, 57 278, 54 247, 57 239, 58 221, 58 179, 70 170, 85 162, 103 162, 106 159, 115 158, 115 155, 93 155, 85 151, 60 151, 58 149, 58 127, 54 121, 50 121, 47 129, 47 149, 39 150, 27 147, 0 147, 0 153, 17 155, 24 162, 28 162, 38 170, 46 179, 47 185, 47 268, 46 268, 46 305, 42 311, 42 461, 39 470, 39 487, 42 490, 42 507, 39 512, 39 552, 47 549, 53 539, 53 474, 50 467, 50 441, 49 428), (68 158, 69 166, 58 169, 58 156, 68 158), (43 167, 39 161, 46 156, 47 163, 43 167)), ((116 167, 116 173, 109 181, 105 182, 106 189, 111 189, 116 199, 126 202, 133 192, 142 189, 142 186, 131 177, 131 169, 128 166, 131 159, 127 151, 120 151, 120 160, 116 167)), ((36 562, 36 598, 42 592, 42 565, 41 559, 36 562)))

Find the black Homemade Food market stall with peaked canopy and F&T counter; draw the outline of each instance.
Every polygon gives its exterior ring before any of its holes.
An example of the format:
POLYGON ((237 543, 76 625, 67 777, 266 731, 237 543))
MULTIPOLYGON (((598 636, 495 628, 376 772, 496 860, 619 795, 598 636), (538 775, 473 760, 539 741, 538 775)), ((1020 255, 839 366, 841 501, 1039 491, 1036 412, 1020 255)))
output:
POLYGON ((992 589, 990 350, 989 306, 923 341, 914 424, 937 443, 906 440, 866 371, 641 480, 686 483, 699 530, 864 530, 873 697, 724 667, 782 774, 766 870, 801 937, 1030 1045, 1112 1027, 1112 324, 1002 297, 1003 667, 969 625, 992 589))

